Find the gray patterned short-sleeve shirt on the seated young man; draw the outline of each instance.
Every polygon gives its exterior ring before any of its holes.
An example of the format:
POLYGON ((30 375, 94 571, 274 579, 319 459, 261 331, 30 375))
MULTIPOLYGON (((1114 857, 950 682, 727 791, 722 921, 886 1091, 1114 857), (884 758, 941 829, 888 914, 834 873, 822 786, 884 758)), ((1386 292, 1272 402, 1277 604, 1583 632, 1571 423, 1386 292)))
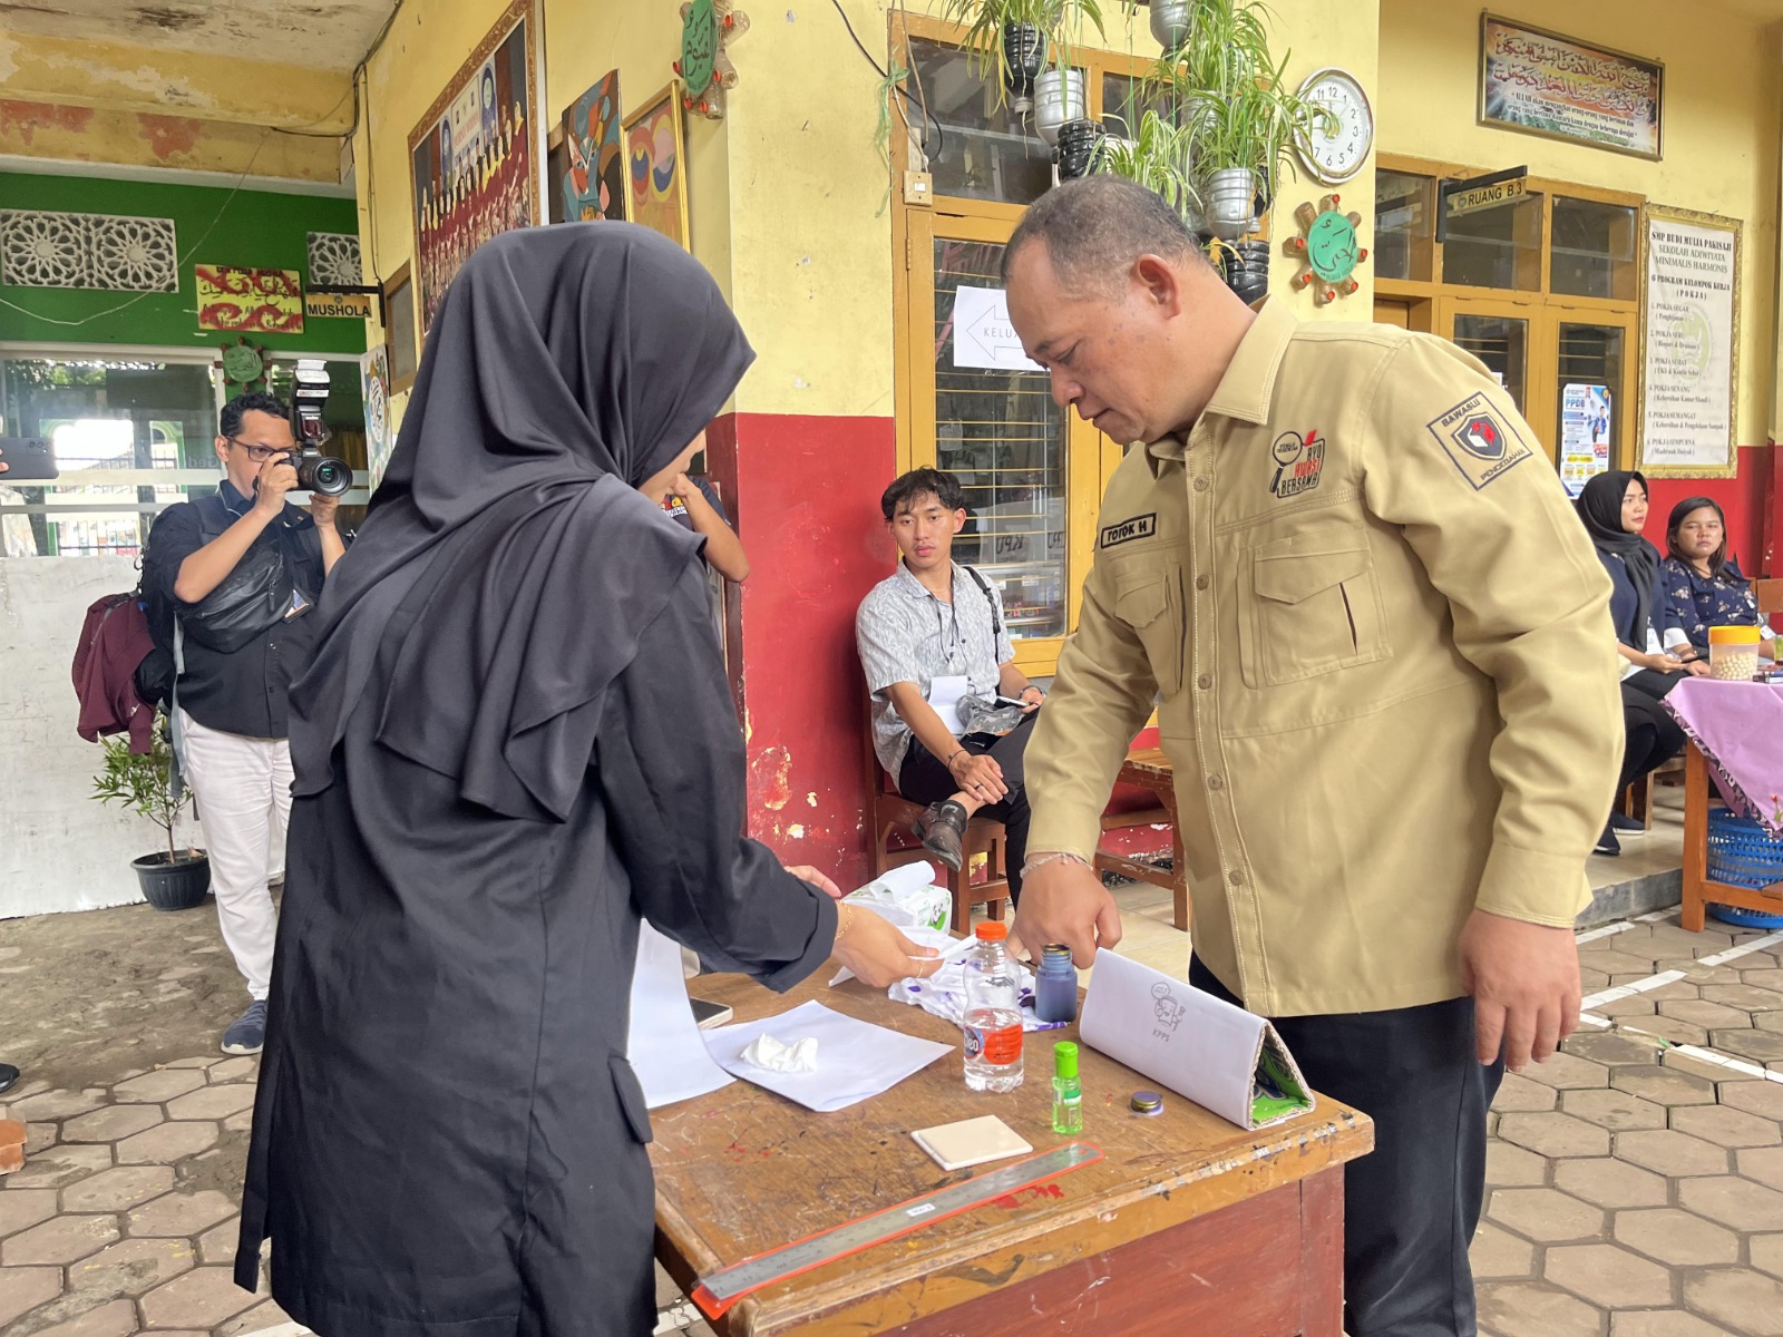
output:
POLYGON ((915 683, 924 699, 936 677, 966 676, 972 695, 995 695, 1002 665, 1015 658, 1004 624, 1002 592, 986 578, 991 597, 954 563, 954 603, 941 603, 899 562, 897 574, 879 581, 854 617, 854 642, 874 695, 874 754, 897 779, 909 751, 909 726, 892 708, 886 688, 915 683), (991 599, 997 613, 991 615, 991 599))

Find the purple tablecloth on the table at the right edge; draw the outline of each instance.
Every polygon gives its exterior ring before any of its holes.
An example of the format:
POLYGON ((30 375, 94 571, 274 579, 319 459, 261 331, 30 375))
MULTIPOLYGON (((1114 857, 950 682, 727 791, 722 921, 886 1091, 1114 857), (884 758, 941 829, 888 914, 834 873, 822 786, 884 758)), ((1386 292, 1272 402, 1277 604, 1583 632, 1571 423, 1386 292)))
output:
POLYGON ((1687 677, 1665 695, 1728 808, 1783 840, 1783 683, 1687 677))

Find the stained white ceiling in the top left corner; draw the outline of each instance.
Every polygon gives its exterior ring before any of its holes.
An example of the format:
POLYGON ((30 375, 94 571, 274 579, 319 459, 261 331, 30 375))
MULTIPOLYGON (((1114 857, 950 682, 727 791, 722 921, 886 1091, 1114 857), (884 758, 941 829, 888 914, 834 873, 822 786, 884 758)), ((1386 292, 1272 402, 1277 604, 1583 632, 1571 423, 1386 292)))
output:
POLYGON ((348 73, 396 0, 0 0, 12 32, 348 73))

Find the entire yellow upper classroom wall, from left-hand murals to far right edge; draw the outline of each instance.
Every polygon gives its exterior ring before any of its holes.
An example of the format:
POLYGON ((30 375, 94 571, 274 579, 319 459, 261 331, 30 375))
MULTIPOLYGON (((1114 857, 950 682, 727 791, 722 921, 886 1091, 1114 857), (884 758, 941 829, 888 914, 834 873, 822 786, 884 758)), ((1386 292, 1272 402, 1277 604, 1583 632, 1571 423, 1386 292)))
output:
MULTIPOLYGON (((929 0, 938 7, 936 0, 929 0)), ((1500 7, 1535 20, 1535 0, 1500 7)), ((756 414, 890 415, 892 210, 874 150, 879 75, 827 0, 751 7, 751 30, 731 46, 740 86, 722 123, 688 121, 688 198, 694 253, 717 275, 760 351, 736 408, 756 414)), ((886 59, 886 0, 843 0, 861 43, 886 59)), ((920 4, 909 9, 920 11, 920 4)), ((1655 201, 1747 221, 1740 439, 1771 424, 1776 358, 1778 125, 1776 43, 1760 27, 1717 11, 1687 21, 1664 0, 1576 0, 1567 30, 1628 43, 1665 34, 1667 157, 1647 164, 1475 125, 1478 9, 1466 0, 1275 0, 1278 52, 1298 84, 1319 66, 1355 73, 1378 119, 1376 148, 1482 169, 1526 162, 1542 176, 1640 191, 1655 201)), ((499 14, 499 0, 410 0, 367 75, 358 134, 360 205, 367 260, 387 276, 410 251, 407 137, 464 55, 499 14)), ((1549 18, 1549 23, 1555 21, 1549 18)), ((1141 11, 1129 21, 1109 4, 1105 50, 1150 57, 1141 11)), ((640 105, 669 80, 679 20, 667 0, 546 0, 544 114, 562 109, 606 70, 619 68, 624 102, 640 105)), ((1373 234, 1373 162, 1343 187, 1373 234)), ((1302 175, 1277 207, 1277 250, 1302 200, 1323 187, 1302 175)), ((893 205, 895 207, 895 205, 893 205)), ((1314 308, 1287 292, 1296 266, 1271 260, 1275 291, 1302 316, 1368 319, 1373 267, 1362 291, 1314 308)))

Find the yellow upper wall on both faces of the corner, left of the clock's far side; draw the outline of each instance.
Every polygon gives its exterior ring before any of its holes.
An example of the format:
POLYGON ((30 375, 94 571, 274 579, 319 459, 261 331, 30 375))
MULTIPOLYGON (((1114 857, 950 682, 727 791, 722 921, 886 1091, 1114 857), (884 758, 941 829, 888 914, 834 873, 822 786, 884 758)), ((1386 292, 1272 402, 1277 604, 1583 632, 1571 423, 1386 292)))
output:
MULTIPOLYGON (((744 7, 751 29, 731 45, 740 84, 727 116, 720 123, 688 121, 694 253, 719 278, 760 351, 736 408, 890 415, 893 253, 892 210, 881 212, 886 169, 874 148, 879 75, 827 0, 744 7)), ((843 0, 843 9, 867 50, 884 62, 884 0, 843 0)), ((909 9, 920 12, 916 4, 909 9)), ((1293 50, 1289 78, 1344 64, 1371 86, 1369 5, 1360 7, 1360 18, 1339 0, 1277 0, 1273 9, 1280 50, 1293 50)), ((380 276, 396 269, 412 244, 408 132, 499 12, 499 0, 410 0, 371 62, 367 125, 355 157, 366 253, 380 276)), ((1145 11, 1129 23, 1109 4, 1107 30, 1095 45, 1141 57, 1155 52, 1145 11)), ((547 0, 546 114, 556 118, 612 68, 620 71, 628 109, 640 105, 667 82, 678 37, 679 16, 670 4, 547 0)), ((1282 216, 1318 194, 1309 178, 1291 182, 1282 216)), ((1350 194, 1373 196, 1371 169, 1350 194)), ((1278 258, 1271 271, 1286 291, 1294 266, 1278 258)), ((1369 308, 1369 275, 1359 278, 1364 291, 1325 316, 1353 317, 1369 308)), ((1314 314, 1311 294, 1287 299, 1314 314)))

